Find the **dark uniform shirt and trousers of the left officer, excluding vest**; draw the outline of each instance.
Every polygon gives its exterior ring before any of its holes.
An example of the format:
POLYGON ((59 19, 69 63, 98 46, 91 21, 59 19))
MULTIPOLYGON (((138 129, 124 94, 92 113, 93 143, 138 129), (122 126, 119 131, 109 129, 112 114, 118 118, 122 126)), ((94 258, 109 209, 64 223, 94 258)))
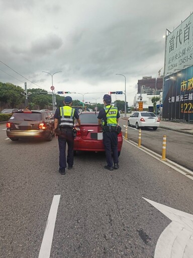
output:
MULTIPOLYGON (((69 105, 66 105, 69 106, 69 105)), ((60 108, 56 109, 54 114, 54 118, 58 119, 58 124, 61 124, 61 115, 60 115, 60 108)), ((79 115, 77 110, 74 111, 73 121, 74 118, 79 119, 79 115)), ((59 126, 61 135, 58 136, 58 145, 59 145, 59 169, 65 170, 66 168, 66 143, 68 145, 68 153, 67 153, 67 163, 68 168, 73 166, 74 155, 73 155, 73 148, 74 148, 74 137, 72 132, 72 127, 70 126, 59 126)))

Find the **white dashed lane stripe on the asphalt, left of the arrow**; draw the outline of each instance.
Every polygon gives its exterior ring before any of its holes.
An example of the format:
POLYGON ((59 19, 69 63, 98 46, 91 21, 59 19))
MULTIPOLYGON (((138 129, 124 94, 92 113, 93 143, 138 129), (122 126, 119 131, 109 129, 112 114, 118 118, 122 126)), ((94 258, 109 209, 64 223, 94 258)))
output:
POLYGON ((49 258, 52 246, 52 239, 54 234, 54 227, 56 222, 56 215, 58 211, 58 205, 60 201, 60 195, 55 195, 53 197, 52 205, 50 207, 50 212, 48 215, 48 220, 46 223, 46 228, 44 231, 44 236, 40 248, 39 258, 49 258))

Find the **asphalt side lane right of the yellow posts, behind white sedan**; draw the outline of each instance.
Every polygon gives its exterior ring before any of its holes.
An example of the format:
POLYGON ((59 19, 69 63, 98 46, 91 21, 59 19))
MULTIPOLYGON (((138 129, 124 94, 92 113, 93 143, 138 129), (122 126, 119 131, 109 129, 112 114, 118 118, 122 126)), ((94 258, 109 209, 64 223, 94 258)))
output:
MULTIPOLYGON (((127 125, 127 120, 120 119, 119 123, 122 126, 123 135, 125 136, 125 127, 123 125, 127 125)), ((158 128, 156 131, 153 131, 152 128, 142 128, 141 144, 161 155, 164 135, 167 138, 166 158, 193 171, 191 158, 193 135, 170 131, 164 128, 158 128)), ((138 143, 138 136, 139 130, 135 127, 128 127, 129 140, 138 143)))

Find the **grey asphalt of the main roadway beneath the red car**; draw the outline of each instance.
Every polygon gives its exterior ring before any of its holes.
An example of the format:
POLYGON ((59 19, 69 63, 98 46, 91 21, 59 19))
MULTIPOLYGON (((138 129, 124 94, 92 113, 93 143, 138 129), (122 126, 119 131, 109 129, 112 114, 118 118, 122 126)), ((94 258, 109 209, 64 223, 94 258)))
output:
POLYGON ((60 175, 56 139, 12 142, 5 140, 4 128, 0 125, 1 257, 38 257, 55 195, 61 197, 54 258, 154 257, 171 221, 143 198, 193 214, 193 181, 126 141, 119 170, 104 169, 103 153, 79 152, 73 169, 60 175))

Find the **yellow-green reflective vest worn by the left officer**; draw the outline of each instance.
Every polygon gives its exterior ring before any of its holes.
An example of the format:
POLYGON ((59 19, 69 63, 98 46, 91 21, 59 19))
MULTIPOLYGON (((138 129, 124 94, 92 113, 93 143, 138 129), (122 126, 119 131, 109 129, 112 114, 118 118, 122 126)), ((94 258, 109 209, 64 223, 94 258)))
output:
POLYGON ((59 126, 73 127, 75 109, 70 106, 60 107, 60 124, 59 126))

